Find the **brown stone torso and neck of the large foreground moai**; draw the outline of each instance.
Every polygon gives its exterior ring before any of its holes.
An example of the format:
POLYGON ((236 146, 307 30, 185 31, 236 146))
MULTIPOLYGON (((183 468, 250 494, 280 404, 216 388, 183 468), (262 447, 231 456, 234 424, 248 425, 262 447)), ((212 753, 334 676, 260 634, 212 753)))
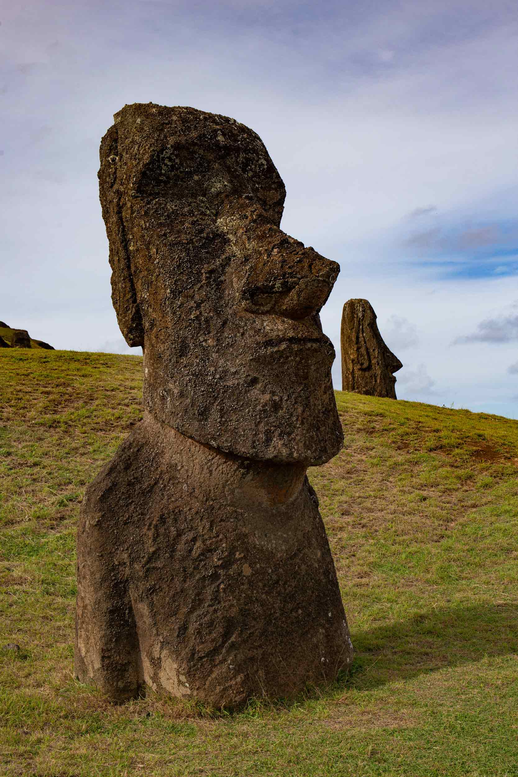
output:
POLYGON ((200 447, 150 413, 89 487, 78 583, 76 672, 116 701, 145 683, 236 707, 352 657, 305 466, 200 447))

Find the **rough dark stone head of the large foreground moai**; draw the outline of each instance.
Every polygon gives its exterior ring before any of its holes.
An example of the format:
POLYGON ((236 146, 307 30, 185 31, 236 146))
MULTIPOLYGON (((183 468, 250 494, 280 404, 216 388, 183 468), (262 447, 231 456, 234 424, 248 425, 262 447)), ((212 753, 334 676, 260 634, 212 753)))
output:
POLYGON ((136 103, 101 144, 113 305, 144 350, 144 404, 245 458, 318 464, 342 444, 318 312, 339 265, 281 232, 285 189, 258 135, 136 103))

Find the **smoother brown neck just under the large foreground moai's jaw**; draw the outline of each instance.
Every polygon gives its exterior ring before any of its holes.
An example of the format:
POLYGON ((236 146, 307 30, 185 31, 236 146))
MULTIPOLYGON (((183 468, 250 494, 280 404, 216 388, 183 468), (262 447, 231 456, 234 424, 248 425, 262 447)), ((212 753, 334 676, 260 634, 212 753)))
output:
POLYGON ((300 495, 308 469, 302 463, 258 462, 204 445, 158 421, 148 410, 143 425, 161 461, 176 472, 186 497, 222 499, 231 507, 273 510, 300 495))

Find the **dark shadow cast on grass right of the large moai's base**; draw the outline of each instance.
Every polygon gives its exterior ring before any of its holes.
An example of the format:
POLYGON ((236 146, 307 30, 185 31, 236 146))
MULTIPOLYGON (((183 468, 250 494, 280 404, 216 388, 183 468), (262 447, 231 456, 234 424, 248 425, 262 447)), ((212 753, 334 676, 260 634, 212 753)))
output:
POLYGON ((356 656, 340 685, 370 690, 393 680, 518 653, 518 602, 433 608, 353 632, 356 656))

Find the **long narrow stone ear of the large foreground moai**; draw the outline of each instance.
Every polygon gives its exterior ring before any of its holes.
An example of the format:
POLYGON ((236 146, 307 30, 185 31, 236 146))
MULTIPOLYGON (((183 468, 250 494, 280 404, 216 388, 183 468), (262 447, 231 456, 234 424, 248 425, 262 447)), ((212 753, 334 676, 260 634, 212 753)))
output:
POLYGON ((144 347, 144 327, 141 308, 138 305, 130 252, 127 247, 122 203, 118 186, 117 162, 118 133, 116 124, 106 132, 99 151, 99 199, 103 209, 106 235, 110 243, 110 267, 112 268, 112 302, 117 322, 124 340, 131 347, 144 347))

